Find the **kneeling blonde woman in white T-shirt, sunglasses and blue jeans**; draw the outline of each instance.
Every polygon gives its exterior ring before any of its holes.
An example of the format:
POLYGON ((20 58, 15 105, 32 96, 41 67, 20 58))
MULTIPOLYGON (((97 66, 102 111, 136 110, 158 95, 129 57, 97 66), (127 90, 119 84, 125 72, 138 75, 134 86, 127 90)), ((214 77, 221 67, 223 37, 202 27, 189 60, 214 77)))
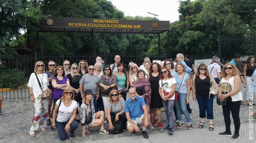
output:
POLYGON ((76 122, 77 102, 72 87, 66 87, 61 99, 58 99, 52 114, 52 127, 57 128, 60 140, 75 138, 75 130, 78 127, 76 122), (60 105, 60 106, 59 106, 60 105), (57 112, 58 111, 58 112, 57 112))

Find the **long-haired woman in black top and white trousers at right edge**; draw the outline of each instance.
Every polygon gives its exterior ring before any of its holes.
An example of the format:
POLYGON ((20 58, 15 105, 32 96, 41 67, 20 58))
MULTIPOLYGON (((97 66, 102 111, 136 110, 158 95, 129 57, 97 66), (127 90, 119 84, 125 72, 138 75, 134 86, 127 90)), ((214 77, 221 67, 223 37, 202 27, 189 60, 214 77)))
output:
MULTIPOLYGON (((245 75, 245 83, 246 83, 246 88, 245 88, 245 100, 248 106, 249 103, 252 102, 249 101, 249 93, 250 93, 250 87, 252 86, 252 81, 251 81, 251 76, 256 68, 256 64, 254 63, 255 61, 255 57, 254 56, 249 56, 246 64, 244 65, 244 75, 245 75)), ((255 103, 253 103, 252 105, 256 105, 255 103)))

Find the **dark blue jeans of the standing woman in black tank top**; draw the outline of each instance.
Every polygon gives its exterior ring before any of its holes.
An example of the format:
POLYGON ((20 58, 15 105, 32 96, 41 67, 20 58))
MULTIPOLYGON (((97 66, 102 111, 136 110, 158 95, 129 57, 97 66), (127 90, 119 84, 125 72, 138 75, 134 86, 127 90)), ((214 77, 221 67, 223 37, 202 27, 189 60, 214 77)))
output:
POLYGON ((205 111, 207 112, 207 119, 213 119, 213 96, 201 96, 201 95, 196 95, 196 100, 199 105, 199 117, 200 118, 205 118, 206 114, 205 111))

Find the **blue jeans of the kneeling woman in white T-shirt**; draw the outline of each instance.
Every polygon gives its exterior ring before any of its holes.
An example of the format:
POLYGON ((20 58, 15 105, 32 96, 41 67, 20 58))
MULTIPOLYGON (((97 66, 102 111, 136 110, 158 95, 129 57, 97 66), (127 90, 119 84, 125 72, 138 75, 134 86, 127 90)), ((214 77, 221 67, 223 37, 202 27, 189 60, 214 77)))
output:
MULTIPOLYGON (((68 121, 69 121, 69 119, 68 119, 68 121)), ((64 128, 68 124, 68 121, 66 121, 66 122, 56 121, 56 128, 57 128, 60 140, 67 139, 67 132, 65 131, 64 128)), ((70 132, 75 132, 77 127, 78 127, 78 123, 76 122, 76 120, 74 120, 70 125, 70 132)))

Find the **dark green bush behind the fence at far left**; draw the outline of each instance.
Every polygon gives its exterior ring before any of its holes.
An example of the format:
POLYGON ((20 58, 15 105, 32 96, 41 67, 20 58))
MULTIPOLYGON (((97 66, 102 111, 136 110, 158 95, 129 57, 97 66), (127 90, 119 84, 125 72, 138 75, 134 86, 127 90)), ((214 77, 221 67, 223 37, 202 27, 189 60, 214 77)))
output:
POLYGON ((24 72, 18 69, 0 70, 0 88, 17 89, 25 83, 24 72))

